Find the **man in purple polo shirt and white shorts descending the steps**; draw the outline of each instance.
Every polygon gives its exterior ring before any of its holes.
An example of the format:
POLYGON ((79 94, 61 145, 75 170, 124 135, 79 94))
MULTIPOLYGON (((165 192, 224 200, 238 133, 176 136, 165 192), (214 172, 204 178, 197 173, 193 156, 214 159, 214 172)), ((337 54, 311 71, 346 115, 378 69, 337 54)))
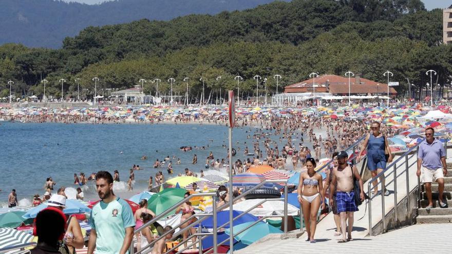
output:
POLYGON ((444 202, 444 175, 447 175, 446 167, 446 152, 444 146, 438 139, 434 137, 435 130, 433 128, 425 129, 426 139, 419 145, 418 151, 418 171, 416 174, 421 176, 422 166, 422 182, 425 186, 427 194, 428 206, 425 209, 429 210, 433 207, 431 200, 431 182, 435 179, 438 182, 438 201, 441 208, 446 208, 447 203, 444 202))

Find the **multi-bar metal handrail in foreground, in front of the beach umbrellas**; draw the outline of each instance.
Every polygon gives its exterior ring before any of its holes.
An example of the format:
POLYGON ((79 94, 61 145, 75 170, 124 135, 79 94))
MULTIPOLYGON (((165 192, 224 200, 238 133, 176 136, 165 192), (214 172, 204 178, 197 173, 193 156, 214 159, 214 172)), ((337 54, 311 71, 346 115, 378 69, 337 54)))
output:
MULTIPOLYGON (((284 202, 284 222, 285 222, 285 224, 284 224, 284 232, 287 233, 287 210, 288 210, 288 205, 287 205, 287 197, 288 197, 287 181, 288 181, 288 180, 282 180, 282 179, 281 179, 281 180, 265 180, 265 181, 260 182, 260 183, 257 184, 256 186, 253 186, 252 188, 247 189, 246 191, 244 191, 243 193, 241 193, 238 197, 234 198, 234 199, 233 199, 233 202, 235 202, 235 201, 237 201, 237 200, 239 200, 239 199, 241 199, 241 198, 247 196, 247 194, 248 194, 249 192, 251 192, 251 191, 253 191, 253 190, 255 190, 255 189, 257 189, 257 188, 259 188, 259 187, 261 187, 261 186, 263 186, 263 185, 265 185, 266 183, 284 183, 284 198, 280 198, 280 199, 266 199, 266 200, 264 200, 264 201, 262 201, 262 202, 259 202, 258 204, 256 204, 256 205, 252 206, 251 208, 249 208, 247 211, 244 211, 244 212, 240 213, 238 216, 236 216, 235 218, 233 218, 232 221, 234 221, 234 220, 240 218, 241 216, 243 216, 243 215, 246 214, 247 212, 251 211, 252 209, 256 208, 257 206, 261 205, 262 203, 264 203, 264 202, 266 202, 266 201, 270 201, 270 200, 284 200, 284 201, 285 201, 285 202, 284 202)), ((159 220, 159 219, 161 219, 161 218, 163 218, 163 217, 166 217, 166 214, 167 214, 167 213, 171 212, 172 210, 176 209, 177 207, 179 207, 180 205, 182 205, 183 203, 189 201, 190 199, 192 199, 192 198, 194 198, 194 197, 214 197, 214 196, 216 196, 216 193, 215 193, 215 192, 209 192, 209 193, 194 193, 194 194, 191 194, 189 197, 186 197, 186 198, 184 198, 183 200, 179 201, 178 203, 176 203, 176 204, 173 205, 172 207, 166 209, 164 212, 160 213, 158 216, 156 216, 156 217, 153 218, 152 220, 146 222, 145 224, 143 224, 143 225, 142 225, 141 227, 139 227, 138 229, 136 229, 136 230, 134 231, 134 235, 135 235, 136 233, 139 233, 141 230, 143 230, 144 228, 146 228, 146 227, 149 226, 150 224, 153 224, 153 223, 156 222, 157 220, 159 220)), ((230 197, 232 197, 232 196, 230 196, 230 197)), ((192 220, 193 218, 195 218, 195 217, 201 217, 201 218, 198 219, 197 221, 191 223, 189 226, 186 226, 186 227, 184 227, 183 229, 179 230, 179 231, 178 231, 178 235, 180 235, 180 233, 183 233, 183 232, 185 232, 185 231, 187 231, 187 230, 190 230, 190 228, 191 228, 191 227, 194 227, 195 225, 198 225, 198 227, 200 228, 200 223, 201 223, 201 222, 203 222, 204 220, 206 220, 206 219, 209 218, 209 217, 213 217, 214 223, 213 223, 213 232, 212 232, 212 233, 201 233, 201 232, 196 233, 195 235, 196 235, 196 236, 201 236, 201 238, 198 239, 198 240, 196 240, 196 241, 194 241, 194 242, 193 242, 192 244, 190 244, 189 246, 184 247, 182 250, 178 250, 178 252, 177 252, 177 253, 180 253, 180 252, 184 251, 185 249, 190 248, 191 246, 195 245, 196 243, 199 243, 199 245, 200 245, 200 246, 199 246, 199 253, 202 254, 201 240, 202 240, 204 237, 207 237, 207 236, 209 236, 209 235, 212 235, 213 238, 214 238, 214 242, 216 243, 216 242, 217 242, 217 232, 218 232, 218 229, 219 229, 219 228, 223 228, 224 226, 226 226, 226 225, 229 223, 229 222, 228 222, 228 223, 226 223, 226 224, 223 224, 223 225, 221 225, 220 227, 217 226, 217 210, 223 210, 223 209, 225 209, 225 208, 228 208, 228 207, 229 207, 229 202, 228 202, 228 203, 225 203, 224 205, 222 205, 222 206, 220 206, 220 207, 217 207, 216 202, 213 201, 212 207, 213 207, 213 212, 212 212, 212 213, 200 213, 200 214, 196 214, 196 215, 193 214, 193 215, 190 216, 189 218, 185 219, 183 222, 180 222, 177 226, 175 226, 175 227, 173 228, 173 230, 170 230, 170 231, 168 231, 168 232, 163 233, 163 235, 161 235, 161 236, 158 237, 157 239, 154 239, 152 242, 148 243, 146 246, 141 246, 141 250, 139 250, 139 251, 137 251, 137 252, 134 252, 134 247, 133 247, 133 245, 131 245, 130 248, 129 248, 130 254, 134 254, 134 253, 135 253, 135 254, 142 253, 145 249, 147 249, 148 247, 152 246, 153 244, 155 244, 157 241, 161 240, 162 238, 166 237, 166 235, 168 235, 169 233, 174 232, 175 228, 180 227, 181 225, 183 225, 184 223, 186 223, 186 222, 188 222, 188 221, 191 221, 191 220, 192 220)), ((271 218, 271 217, 282 217, 282 216, 266 216, 266 217, 263 217, 263 219, 265 219, 265 218, 271 218)), ((262 220, 262 218, 261 218, 261 220, 262 220)), ((261 220, 259 220, 259 221, 261 221, 261 220)), ((254 226, 254 225, 255 225, 255 224, 252 224, 252 226, 254 226)), ((251 227, 250 225, 247 226, 247 227, 245 228, 245 230, 248 229, 248 228, 250 228, 250 227, 251 227)), ((242 231, 242 230, 241 230, 241 231, 242 231)), ((240 232, 241 232, 241 231, 240 231, 240 232)), ((243 231, 244 231, 244 230, 243 230, 243 231)), ((195 235, 193 235, 193 236, 195 236, 195 235)), ((238 233, 234 233, 234 237, 235 237, 236 235, 238 235, 238 233)), ((192 237, 191 237, 191 238, 187 238, 186 240, 184 240, 184 241, 178 243, 176 246, 174 246, 173 248, 171 248, 170 250, 168 250, 168 251, 165 252, 165 253, 169 253, 169 252, 175 250, 176 248, 178 248, 178 247, 181 246, 182 244, 186 243, 187 241, 190 241, 191 239, 192 239, 192 237)), ((229 239, 227 239, 227 240, 229 240, 229 239)), ((225 240, 225 241, 227 241, 227 240, 225 240)), ((224 241, 224 242, 225 242, 225 241, 224 241)), ((212 248, 212 250, 214 251, 214 253, 217 253, 217 246, 218 246, 218 245, 214 244, 214 246, 213 246, 213 248, 212 248)), ((148 251, 148 250, 146 250, 146 251, 148 251)), ((209 250, 209 251, 210 251, 210 250, 209 250)))

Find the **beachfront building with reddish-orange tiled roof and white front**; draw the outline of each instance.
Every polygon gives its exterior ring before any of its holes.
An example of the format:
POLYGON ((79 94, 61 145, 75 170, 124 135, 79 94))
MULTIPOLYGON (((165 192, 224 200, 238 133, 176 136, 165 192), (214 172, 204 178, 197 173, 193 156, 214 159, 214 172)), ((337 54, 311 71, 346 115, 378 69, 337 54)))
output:
MULTIPOLYGON (((387 99, 388 85, 375 81, 363 79, 356 75, 350 79, 350 95, 352 100, 356 99, 387 99)), ((397 91, 389 87, 389 97, 396 97, 397 91)), ((309 79, 286 86, 284 93, 276 94, 272 97, 273 105, 296 104, 299 101, 314 99, 317 103, 320 100, 343 100, 349 96, 348 76, 338 76, 333 74, 320 75, 314 79, 309 79)))

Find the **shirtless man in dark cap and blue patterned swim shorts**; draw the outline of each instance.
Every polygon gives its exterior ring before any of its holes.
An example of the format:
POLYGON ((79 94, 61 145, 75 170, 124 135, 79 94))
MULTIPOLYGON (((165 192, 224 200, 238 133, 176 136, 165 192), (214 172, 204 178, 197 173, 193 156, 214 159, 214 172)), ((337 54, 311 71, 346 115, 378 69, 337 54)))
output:
MULTIPOLYGON (((342 239, 338 243, 345 243, 353 240, 351 231, 353 229, 353 212, 358 210, 354 201, 353 192, 353 177, 360 183, 360 198, 364 201, 363 180, 355 165, 353 168, 347 164, 348 154, 345 151, 340 151, 337 154, 337 168, 333 169, 333 177, 330 183, 330 192, 336 193, 336 207, 339 216, 341 217, 342 239), (337 186, 337 191, 336 191, 337 186), (348 219, 348 228, 347 222, 348 219), (348 230, 347 230, 348 229, 348 230), (345 233, 348 231, 348 236, 345 238, 345 233)), ((333 199, 330 199, 330 206, 332 206, 333 199)))

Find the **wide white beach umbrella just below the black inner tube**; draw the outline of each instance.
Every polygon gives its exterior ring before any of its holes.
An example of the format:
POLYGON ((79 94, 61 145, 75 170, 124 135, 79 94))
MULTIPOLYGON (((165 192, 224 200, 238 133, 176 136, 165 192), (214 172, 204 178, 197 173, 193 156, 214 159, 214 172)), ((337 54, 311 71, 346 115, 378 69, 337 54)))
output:
MULTIPOLYGON (((281 198, 284 198, 282 196, 281 198)), ((234 210, 237 211, 246 211, 253 206, 256 206, 258 203, 262 202, 264 199, 248 199, 241 201, 237 204, 234 204, 234 210)), ((229 209, 229 208, 226 208, 229 209)), ((287 214, 289 216, 296 216, 298 214, 299 208, 288 204, 287 205, 287 214)), ((282 200, 268 200, 263 202, 262 204, 255 207, 253 210, 248 213, 253 214, 256 217, 270 216, 270 215, 280 215, 284 216, 284 201, 282 200)))

